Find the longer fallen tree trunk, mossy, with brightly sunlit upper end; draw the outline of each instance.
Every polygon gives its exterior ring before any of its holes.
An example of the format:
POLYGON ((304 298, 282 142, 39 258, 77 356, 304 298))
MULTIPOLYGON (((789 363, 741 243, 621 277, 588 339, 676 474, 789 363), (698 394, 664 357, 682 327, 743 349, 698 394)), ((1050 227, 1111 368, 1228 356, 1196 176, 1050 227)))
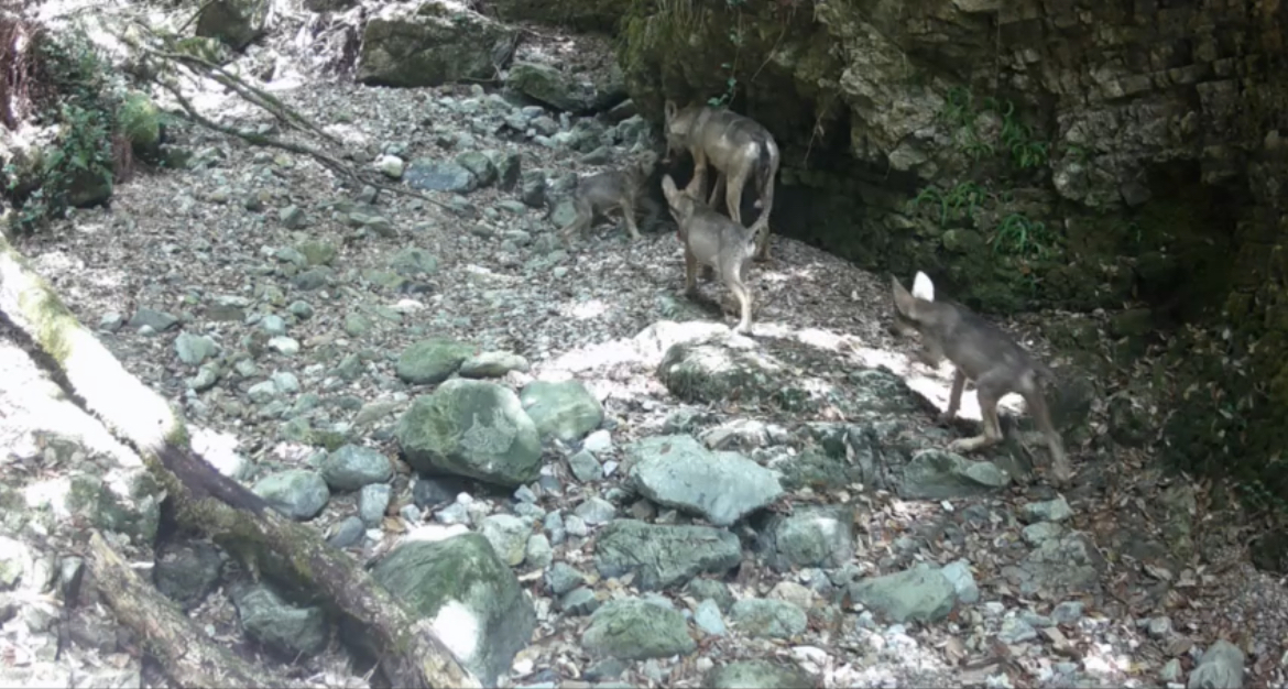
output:
POLYGON ((183 421, 130 375, 0 236, 0 317, 48 355, 59 385, 122 442, 134 447, 180 523, 205 532, 254 572, 325 596, 334 612, 367 627, 380 668, 394 686, 480 686, 429 622, 416 619, 346 554, 291 522, 196 455, 183 421))

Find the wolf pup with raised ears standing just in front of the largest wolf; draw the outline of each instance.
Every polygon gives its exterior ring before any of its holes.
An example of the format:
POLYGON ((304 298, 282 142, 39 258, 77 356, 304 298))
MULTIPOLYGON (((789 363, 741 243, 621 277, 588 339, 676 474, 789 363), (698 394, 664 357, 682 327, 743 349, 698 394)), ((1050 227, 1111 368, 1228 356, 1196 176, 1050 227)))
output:
POLYGON ((751 332, 751 290, 743 276, 756 252, 755 231, 711 210, 688 189, 677 189, 671 175, 662 176, 662 193, 680 228, 685 292, 692 295, 698 288, 698 265, 710 265, 738 300, 741 318, 734 332, 751 332))

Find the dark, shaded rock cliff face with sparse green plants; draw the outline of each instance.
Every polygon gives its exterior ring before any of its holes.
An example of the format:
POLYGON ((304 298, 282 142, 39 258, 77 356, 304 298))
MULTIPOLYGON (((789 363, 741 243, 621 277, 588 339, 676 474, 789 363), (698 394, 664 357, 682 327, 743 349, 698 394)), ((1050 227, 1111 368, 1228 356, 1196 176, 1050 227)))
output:
POLYGON ((1288 442, 1288 5, 620 8, 643 112, 711 99, 779 140, 778 232, 872 269, 926 269, 984 310, 1141 304, 1114 319, 1131 340, 1115 363, 1164 328, 1155 385, 1203 390, 1177 395, 1176 458, 1247 457, 1244 477, 1283 493, 1262 467, 1288 442))

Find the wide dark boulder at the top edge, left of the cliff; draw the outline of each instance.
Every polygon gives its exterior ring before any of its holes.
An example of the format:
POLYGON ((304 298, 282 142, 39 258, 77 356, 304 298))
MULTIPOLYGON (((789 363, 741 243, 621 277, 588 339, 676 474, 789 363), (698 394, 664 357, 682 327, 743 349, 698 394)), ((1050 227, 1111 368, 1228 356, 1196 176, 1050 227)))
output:
POLYGON ((363 31, 357 79, 381 86, 492 79, 514 40, 507 26, 433 0, 415 9, 386 5, 363 31))

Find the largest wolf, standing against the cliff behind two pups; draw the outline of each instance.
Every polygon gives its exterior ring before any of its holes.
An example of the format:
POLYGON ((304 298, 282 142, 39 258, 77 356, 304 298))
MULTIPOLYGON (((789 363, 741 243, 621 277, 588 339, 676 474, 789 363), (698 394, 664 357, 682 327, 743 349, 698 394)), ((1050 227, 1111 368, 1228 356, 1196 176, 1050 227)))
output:
POLYGON ((742 224, 742 188, 755 176, 756 207, 752 223, 756 260, 769 260, 769 212, 774 207, 774 176, 778 175, 778 144, 760 122, 728 109, 689 106, 679 109, 666 102, 667 157, 679 151, 693 155, 693 180, 685 191, 701 198, 706 193, 707 162, 716 169, 716 187, 708 205, 715 207, 723 194, 729 218, 742 224))

